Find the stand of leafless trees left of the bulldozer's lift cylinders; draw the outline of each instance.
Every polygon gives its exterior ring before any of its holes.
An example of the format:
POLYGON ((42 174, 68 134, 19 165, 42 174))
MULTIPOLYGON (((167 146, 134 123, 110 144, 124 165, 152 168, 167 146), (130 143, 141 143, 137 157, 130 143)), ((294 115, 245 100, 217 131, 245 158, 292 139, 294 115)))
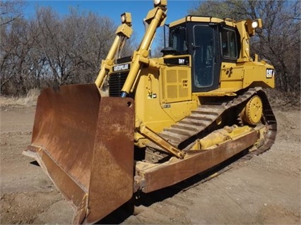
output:
MULTIPOLYGON (((71 8, 66 16, 40 7, 32 19, 10 15, 17 17, 11 16, 1 25, 2 95, 25 95, 35 87, 93 82, 117 28, 110 18, 78 8, 71 8)), ((132 51, 129 42, 124 54, 132 51)))

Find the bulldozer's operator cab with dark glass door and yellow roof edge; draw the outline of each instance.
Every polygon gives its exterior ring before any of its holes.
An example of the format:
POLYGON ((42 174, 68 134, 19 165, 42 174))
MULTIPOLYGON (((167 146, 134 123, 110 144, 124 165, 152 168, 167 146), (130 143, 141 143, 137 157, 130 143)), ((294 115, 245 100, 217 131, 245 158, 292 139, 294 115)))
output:
POLYGON ((218 89, 221 63, 236 63, 239 39, 235 27, 218 18, 187 16, 170 24, 170 48, 191 55, 192 92, 218 89))

